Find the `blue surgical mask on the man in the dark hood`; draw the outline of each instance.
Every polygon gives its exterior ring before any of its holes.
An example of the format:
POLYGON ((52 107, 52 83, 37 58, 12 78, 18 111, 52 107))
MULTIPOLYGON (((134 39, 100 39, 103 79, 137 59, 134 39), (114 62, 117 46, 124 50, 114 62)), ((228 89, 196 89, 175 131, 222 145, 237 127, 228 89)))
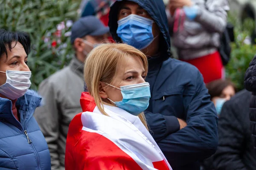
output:
POLYGON ((117 23, 118 28, 116 33, 125 44, 142 50, 154 41, 154 35, 152 33, 153 20, 130 14, 117 23))

